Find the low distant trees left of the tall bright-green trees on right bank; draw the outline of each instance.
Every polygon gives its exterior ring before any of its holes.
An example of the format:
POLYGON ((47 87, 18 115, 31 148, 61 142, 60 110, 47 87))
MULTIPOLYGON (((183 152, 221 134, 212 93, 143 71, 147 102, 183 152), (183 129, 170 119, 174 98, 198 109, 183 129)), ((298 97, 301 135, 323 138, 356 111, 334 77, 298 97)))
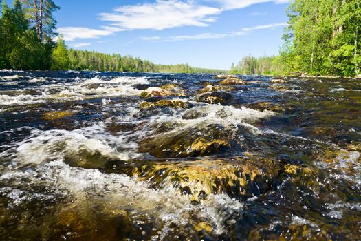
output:
POLYGON ((245 56, 237 65, 232 63, 231 74, 280 75, 285 66, 280 56, 245 56))

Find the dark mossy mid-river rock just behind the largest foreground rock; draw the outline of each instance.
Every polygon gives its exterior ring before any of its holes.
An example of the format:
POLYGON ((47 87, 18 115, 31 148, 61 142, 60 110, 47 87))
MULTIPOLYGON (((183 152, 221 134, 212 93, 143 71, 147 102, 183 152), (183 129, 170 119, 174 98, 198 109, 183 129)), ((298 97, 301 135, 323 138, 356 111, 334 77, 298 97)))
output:
POLYGON ((210 156, 239 148, 239 144, 219 125, 179 129, 146 138, 140 143, 141 152, 159 158, 210 156))

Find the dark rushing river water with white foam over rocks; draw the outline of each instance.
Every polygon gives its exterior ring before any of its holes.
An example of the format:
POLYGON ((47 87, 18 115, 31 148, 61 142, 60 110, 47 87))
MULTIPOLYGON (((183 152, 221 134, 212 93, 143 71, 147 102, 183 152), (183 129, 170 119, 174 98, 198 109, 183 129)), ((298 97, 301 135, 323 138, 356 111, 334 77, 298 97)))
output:
POLYGON ((0 239, 361 240, 361 82, 213 77, 0 72, 0 239))

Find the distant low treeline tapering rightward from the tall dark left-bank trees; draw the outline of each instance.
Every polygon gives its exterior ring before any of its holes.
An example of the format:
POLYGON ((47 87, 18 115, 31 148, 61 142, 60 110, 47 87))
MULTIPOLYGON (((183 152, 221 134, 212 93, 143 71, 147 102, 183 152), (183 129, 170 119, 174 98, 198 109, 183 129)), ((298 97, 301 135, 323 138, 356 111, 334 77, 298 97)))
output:
POLYGON ((156 65, 151 61, 120 54, 102 54, 87 50, 67 49, 59 36, 53 54, 54 70, 96 70, 113 72, 175 72, 175 73, 221 73, 222 70, 208 70, 190 67, 188 64, 156 65))

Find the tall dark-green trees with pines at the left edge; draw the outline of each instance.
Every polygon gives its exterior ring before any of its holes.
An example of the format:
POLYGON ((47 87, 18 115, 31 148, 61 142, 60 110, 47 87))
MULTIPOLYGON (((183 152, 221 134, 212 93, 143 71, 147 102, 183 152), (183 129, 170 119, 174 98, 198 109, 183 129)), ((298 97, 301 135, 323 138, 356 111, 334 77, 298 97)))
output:
POLYGON ((2 1, 0 68, 50 69, 56 9, 51 0, 15 0, 12 8, 2 1))

